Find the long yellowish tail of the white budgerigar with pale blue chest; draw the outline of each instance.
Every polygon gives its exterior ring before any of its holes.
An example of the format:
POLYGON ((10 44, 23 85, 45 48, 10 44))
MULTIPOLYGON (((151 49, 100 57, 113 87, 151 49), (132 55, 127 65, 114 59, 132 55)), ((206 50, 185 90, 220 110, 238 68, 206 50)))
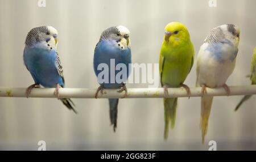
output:
POLYGON ((202 143, 204 143, 204 137, 207 134, 210 109, 212 108, 212 100, 213 100, 212 96, 201 97, 200 129, 202 131, 202 143))

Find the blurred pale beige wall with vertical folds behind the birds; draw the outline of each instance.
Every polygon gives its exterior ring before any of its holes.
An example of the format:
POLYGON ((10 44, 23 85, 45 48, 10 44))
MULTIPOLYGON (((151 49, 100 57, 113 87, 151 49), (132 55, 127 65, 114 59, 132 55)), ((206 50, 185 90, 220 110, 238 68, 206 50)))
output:
MULTIPOLYGON (((66 87, 96 88, 93 52, 104 29, 125 25, 131 32, 133 62, 158 63, 164 27, 174 21, 189 29, 196 56, 210 29, 237 24, 240 49, 227 83, 250 84, 245 76, 256 46, 256 1, 217 0, 216 7, 208 2, 46 0, 46 7, 38 7, 38 0, 0 0, 0 86, 33 83, 22 58, 31 28, 52 25, 58 30, 66 87)), ((195 69, 194 64, 185 81, 191 87, 195 69)), ((106 99, 73 99, 79 111, 75 115, 57 99, 0 98, 0 150, 37 150, 39 140, 46 141, 47 150, 208 150, 209 140, 216 140, 217 150, 256 150, 255 97, 235 113, 241 97, 214 98, 205 144, 199 129, 199 97, 179 99, 176 126, 167 142, 163 141, 162 99, 120 100, 117 133, 113 133, 106 99)))

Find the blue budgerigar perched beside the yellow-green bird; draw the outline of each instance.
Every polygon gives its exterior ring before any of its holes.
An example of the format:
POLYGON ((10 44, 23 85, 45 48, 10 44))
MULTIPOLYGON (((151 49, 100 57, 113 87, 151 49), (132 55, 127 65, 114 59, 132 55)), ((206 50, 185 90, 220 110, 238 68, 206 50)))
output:
MULTIPOLYGON (((105 63, 108 65, 109 73, 108 79, 106 82, 99 82, 100 87, 97 89, 96 98, 98 92, 103 92, 104 88, 121 88, 118 92, 125 91, 125 96, 127 95, 127 89, 125 86, 126 80, 123 79, 123 82, 117 82, 115 79, 115 75, 120 72, 120 70, 114 69, 114 74, 112 75, 110 69, 112 66, 116 67, 119 63, 122 63, 126 67, 126 79, 129 76, 129 63, 131 63, 131 48, 130 48, 130 32, 129 29, 126 27, 119 25, 115 27, 110 27, 102 32, 100 41, 96 45, 94 50, 94 58, 93 58, 93 66, 94 72, 98 75, 102 72, 98 69, 101 63, 105 63), (110 62, 114 61, 114 65, 110 65, 110 62)), ((112 62, 113 63, 113 62, 112 62)), ((99 81, 99 80, 98 80, 99 81)), ((124 97, 125 97, 124 96, 124 97)), ((110 114, 110 122, 113 125, 114 131, 117 127, 117 106, 118 106, 118 99, 109 99, 109 114, 110 114)))

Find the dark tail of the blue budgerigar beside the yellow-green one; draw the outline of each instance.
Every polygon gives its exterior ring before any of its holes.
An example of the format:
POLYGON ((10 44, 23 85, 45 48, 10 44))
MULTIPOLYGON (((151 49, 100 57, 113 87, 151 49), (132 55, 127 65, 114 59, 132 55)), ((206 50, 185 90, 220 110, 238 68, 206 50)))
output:
POLYGON ((109 99, 109 116, 111 125, 113 125, 113 129, 117 128, 117 105, 118 99, 109 99))

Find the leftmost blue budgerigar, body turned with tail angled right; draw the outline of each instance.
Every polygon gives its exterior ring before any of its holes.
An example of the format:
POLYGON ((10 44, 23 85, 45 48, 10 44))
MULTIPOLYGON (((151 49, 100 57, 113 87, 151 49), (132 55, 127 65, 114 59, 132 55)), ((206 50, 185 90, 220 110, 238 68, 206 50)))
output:
MULTIPOLYGON (((27 97, 32 88, 42 85, 47 88, 56 87, 55 95, 59 99, 59 88, 64 87, 64 76, 57 53, 57 35, 57 30, 51 26, 36 27, 28 32, 23 60, 35 84, 27 88, 27 97)), ((77 113, 71 99, 60 100, 68 109, 77 113)))

